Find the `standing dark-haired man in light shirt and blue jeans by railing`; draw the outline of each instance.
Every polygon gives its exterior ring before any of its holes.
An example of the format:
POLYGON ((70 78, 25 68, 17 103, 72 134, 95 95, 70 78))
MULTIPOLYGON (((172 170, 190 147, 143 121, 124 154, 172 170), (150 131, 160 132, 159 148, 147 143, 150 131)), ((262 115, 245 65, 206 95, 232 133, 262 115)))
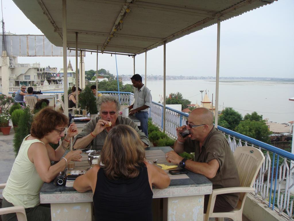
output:
POLYGON ((136 116, 141 122, 141 126, 138 128, 141 129, 143 133, 148 137, 148 118, 149 118, 149 108, 152 103, 152 96, 150 90, 142 83, 142 77, 138 74, 131 77, 133 86, 138 88, 135 89, 135 102, 129 106, 130 115, 136 116))

